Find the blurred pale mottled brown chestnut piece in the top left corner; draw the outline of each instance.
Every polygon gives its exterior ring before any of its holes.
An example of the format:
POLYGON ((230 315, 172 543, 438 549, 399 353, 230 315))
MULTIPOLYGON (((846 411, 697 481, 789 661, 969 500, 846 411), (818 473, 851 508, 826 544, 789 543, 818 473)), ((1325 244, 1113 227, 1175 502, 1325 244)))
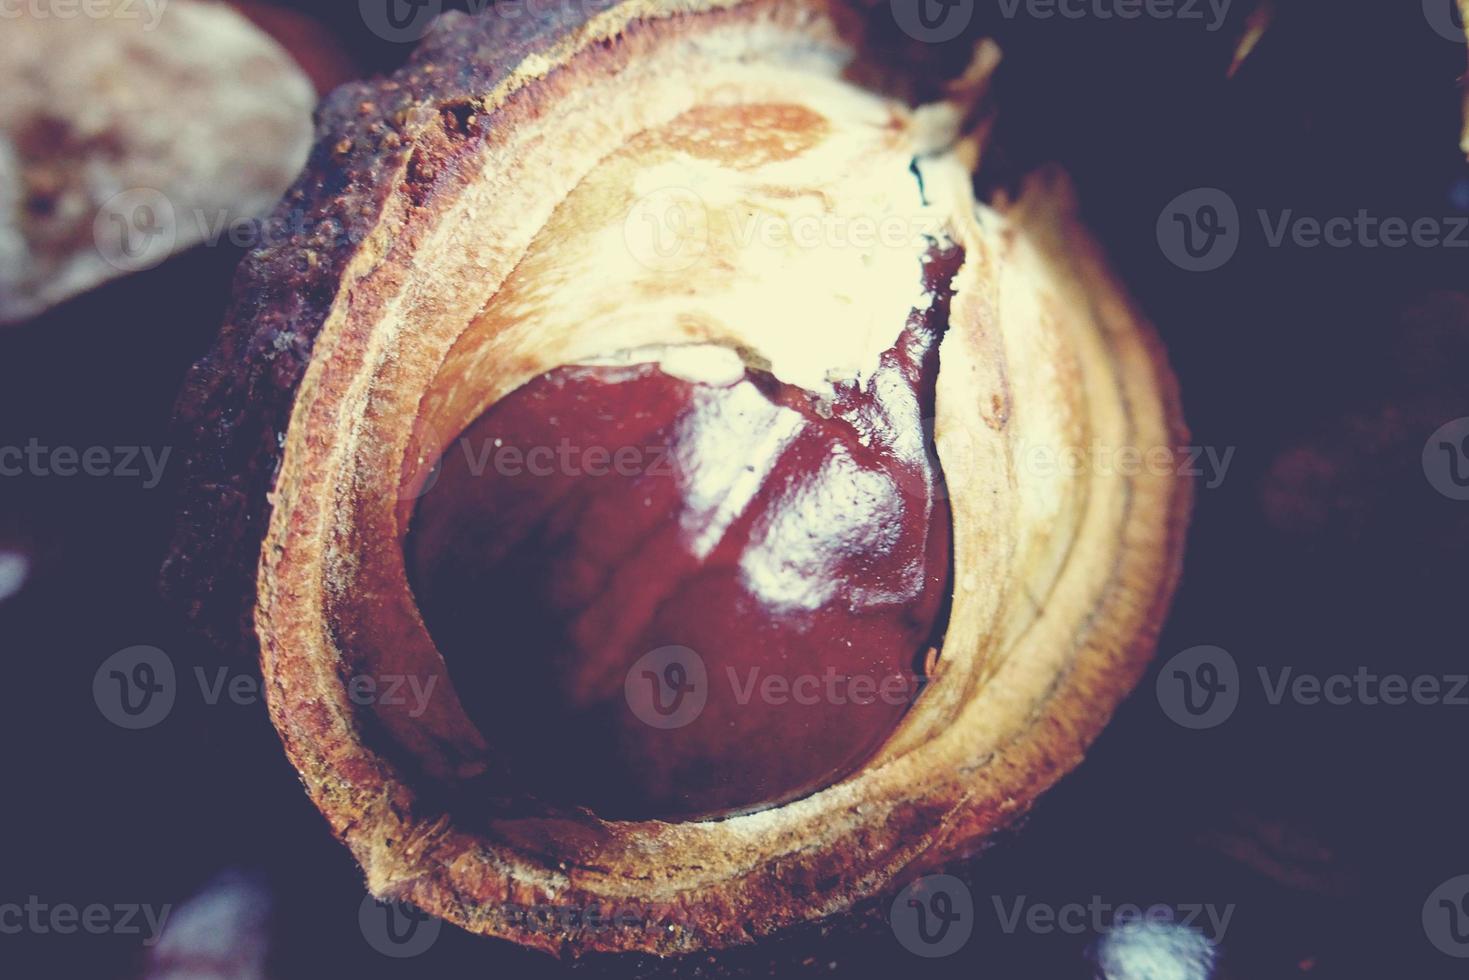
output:
POLYGON ((350 72, 288 12, 281 38, 200 0, 0 19, 0 325, 269 213, 311 147, 303 65, 323 85, 350 72))

